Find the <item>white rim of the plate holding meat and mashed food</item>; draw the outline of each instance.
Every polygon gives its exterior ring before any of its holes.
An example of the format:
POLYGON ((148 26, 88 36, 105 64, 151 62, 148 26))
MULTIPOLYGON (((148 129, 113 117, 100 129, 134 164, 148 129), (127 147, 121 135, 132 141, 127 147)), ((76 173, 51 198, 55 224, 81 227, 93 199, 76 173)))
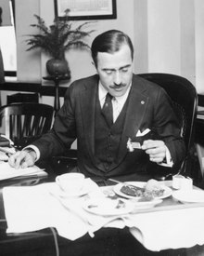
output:
MULTIPOLYGON (((131 185, 135 185, 137 187, 141 187, 143 188, 147 182, 127 182, 131 185)), ((122 197, 125 197, 125 198, 134 198, 134 199, 140 199, 141 197, 139 196, 132 196, 132 195, 126 195, 124 193, 121 192, 121 187, 123 186, 122 183, 119 183, 117 185, 114 186, 114 192, 117 194, 117 195, 121 195, 122 197)), ((166 198, 166 197, 169 197, 170 195, 172 195, 172 189, 168 186, 165 186, 165 185, 161 185, 161 188, 164 189, 164 193, 163 195, 161 196, 157 196, 155 198, 157 199, 163 199, 163 198, 166 198)))

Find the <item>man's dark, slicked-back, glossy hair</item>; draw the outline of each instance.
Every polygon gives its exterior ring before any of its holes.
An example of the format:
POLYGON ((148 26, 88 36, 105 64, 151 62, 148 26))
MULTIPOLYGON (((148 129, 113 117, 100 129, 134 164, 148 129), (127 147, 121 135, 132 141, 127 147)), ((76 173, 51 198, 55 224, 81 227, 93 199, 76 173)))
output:
POLYGON ((114 53, 121 49, 121 46, 127 45, 131 49, 131 57, 134 60, 134 46, 127 34, 122 33, 118 30, 109 30, 103 34, 96 36, 92 43, 92 58, 97 66, 97 53, 108 52, 114 53))

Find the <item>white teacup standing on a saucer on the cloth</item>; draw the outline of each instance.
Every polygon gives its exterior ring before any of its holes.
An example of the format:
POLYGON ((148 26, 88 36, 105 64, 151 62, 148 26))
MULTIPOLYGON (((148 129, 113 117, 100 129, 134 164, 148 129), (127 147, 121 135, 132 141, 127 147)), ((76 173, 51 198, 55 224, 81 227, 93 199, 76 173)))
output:
POLYGON ((57 176, 56 182, 65 193, 77 194, 83 188, 84 179, 83 173, 70 172, 57 176))

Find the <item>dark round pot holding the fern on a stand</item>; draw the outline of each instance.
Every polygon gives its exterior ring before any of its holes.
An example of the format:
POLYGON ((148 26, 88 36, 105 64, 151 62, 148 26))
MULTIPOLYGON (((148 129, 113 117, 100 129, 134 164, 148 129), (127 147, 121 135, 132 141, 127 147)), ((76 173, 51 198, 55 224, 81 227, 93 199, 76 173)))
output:
POLYGON ((50 75, 70 75, 68 61, 51 59, 46 62, 46 70, 50 75))

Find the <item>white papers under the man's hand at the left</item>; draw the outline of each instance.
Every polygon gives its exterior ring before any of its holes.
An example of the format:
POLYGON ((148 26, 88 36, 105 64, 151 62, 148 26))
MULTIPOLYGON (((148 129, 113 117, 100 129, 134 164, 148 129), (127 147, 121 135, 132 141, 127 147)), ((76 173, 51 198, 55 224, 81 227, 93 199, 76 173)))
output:
POLYGON ((47 173, 36 166, 30 168, 12 168, 7 162, 0 162, 0 181, 16 178, 19 176, 29 177, 29 176, 42 177, 46 176, 47 173))

